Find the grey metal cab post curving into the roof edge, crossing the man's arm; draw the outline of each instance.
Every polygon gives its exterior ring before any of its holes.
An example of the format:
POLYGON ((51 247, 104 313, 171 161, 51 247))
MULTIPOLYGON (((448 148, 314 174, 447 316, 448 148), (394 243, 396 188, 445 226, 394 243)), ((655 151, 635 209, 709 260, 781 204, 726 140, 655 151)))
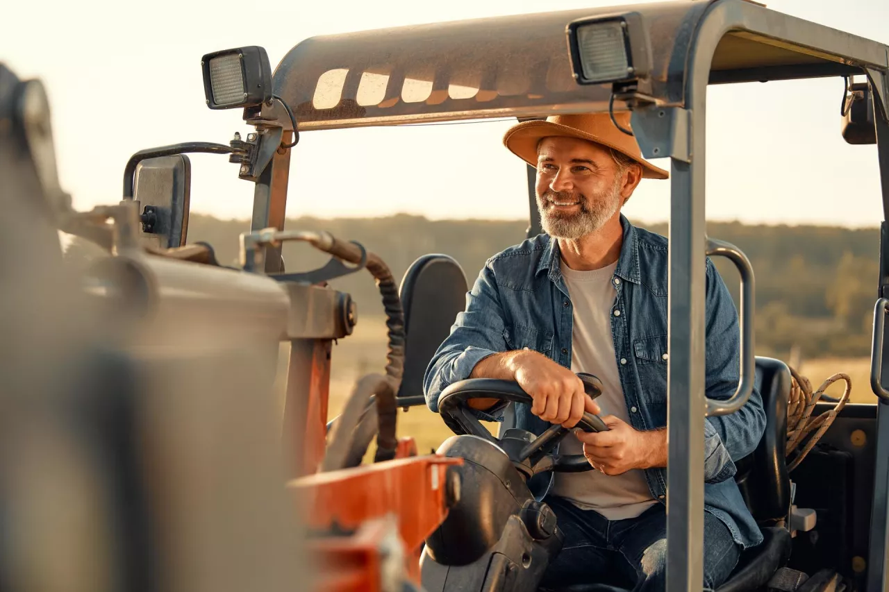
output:
MULTIPOLYGON (((700 590, 703 581, 706 97, 717 44, 733 30, 769 36, 778 43, 818 48, 853 62, 870 63, 869 48, 856 44, 855 37, 842 31, 815 28, 805 20, 785 15, 776 20, 775 14, 763 7, 726 1, 709 7, 693 36, 687 62, 677 64, 677 68, 685 67, 685 108, 693 116, 688 155, 691 162, 685 164, 675 156, 672 161, 667 592, 700 590)), ((773 73, 781 74, 777 70, 773 73)), ((762 75, 765 74, 763 71, 762 75)), ((671 148, 670 154, 675 153, 671 148)))

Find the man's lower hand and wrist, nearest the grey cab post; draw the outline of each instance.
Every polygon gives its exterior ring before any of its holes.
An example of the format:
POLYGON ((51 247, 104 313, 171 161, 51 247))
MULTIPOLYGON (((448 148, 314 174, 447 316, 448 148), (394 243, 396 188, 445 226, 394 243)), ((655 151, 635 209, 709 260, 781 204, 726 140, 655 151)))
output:
POLYGON ((613 415, 604 415, 607 432, 582 432, 583 455, 605 475, 621 475, 632 468, 667 466, 667 430, 640 432, 613 415))

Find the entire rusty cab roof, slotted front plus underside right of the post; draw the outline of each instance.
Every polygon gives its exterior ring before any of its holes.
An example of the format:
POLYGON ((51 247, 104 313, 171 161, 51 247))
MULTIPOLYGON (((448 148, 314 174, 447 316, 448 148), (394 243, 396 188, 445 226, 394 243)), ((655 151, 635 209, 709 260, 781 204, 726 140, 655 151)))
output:
MULTIPOLYGON (((651 39, 652 96, 661 106, 681 106, 696 28, 715 4, 761 11, 765 27, 728 32, 714 53, 714 71, 831 63, 885 68, 883 44, 843 34, 843 44, 818 51, 808 42, 835 37, 835 29, 743 0, 679 0, 311 37, 277 66, 275 92, 303 131, 605 111, 611 84, 574 82, 565 27, 580 18, 638 12, 651 39), (801 26, 805 40, 782 38, 801 26)), ((615 109, 623 108, 615 101, 615 109)), ((289 126, 275 108, 264 108, 263 115, 289 126)))

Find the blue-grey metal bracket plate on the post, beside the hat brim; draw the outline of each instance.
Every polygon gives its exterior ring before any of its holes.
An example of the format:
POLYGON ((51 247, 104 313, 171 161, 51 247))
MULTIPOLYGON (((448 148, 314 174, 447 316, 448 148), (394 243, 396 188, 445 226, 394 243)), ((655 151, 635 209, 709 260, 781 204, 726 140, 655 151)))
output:
POLYGON ((645 158, 692 162, 692 112, 680 107, 634 109, 630 121, 645 158))

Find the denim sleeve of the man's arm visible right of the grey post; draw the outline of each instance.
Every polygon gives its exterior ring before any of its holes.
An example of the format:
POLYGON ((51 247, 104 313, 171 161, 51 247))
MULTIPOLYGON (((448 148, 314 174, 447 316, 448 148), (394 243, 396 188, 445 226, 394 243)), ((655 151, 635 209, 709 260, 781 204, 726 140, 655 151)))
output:
MULTIPOLYGON (((741 327, 731 294, 711 260, 707 260, 706 394, 733 396, 741 381, 741 327)), ((707 483, 735 475, 735 460, 757 448, 765 430, 765 409, 754 384, 746 404, 736 412, 709 417, 704 426, 704 478, 707 483)))

